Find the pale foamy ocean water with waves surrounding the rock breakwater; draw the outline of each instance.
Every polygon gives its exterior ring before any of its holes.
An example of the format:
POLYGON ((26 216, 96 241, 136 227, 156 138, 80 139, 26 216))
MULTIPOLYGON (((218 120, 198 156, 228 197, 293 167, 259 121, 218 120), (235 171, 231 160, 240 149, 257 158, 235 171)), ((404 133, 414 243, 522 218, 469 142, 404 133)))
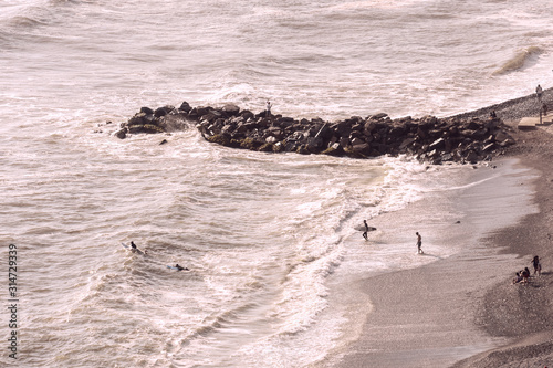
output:
POLYGON ((328 275, 430 262, 398 256, 410 243, 352 261, 363 219, 456 190, 470 169, 232 150, 194 128, 109 133, 142 106, 182 101, 259 112, 270 99, 330 120, 499 103, 553 83, 551 13, 545 0, 0 0, 0 246, 7 272, 18 245, 20 297, 19 357, 0 361, 324 358, 347 324, 328 311, 328 275), (132 240, 148 254, 121 246, 132 240))

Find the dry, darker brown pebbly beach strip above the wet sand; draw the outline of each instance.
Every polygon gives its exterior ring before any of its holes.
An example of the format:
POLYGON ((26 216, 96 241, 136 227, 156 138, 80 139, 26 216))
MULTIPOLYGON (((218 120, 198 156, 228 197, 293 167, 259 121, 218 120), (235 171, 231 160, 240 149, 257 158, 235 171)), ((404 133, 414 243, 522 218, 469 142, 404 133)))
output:
MULTIPOLYGON (((553 196, 553 175, 550 174, 553 172, 553 128, 519 133, 518 140, 520 144, 513 155, 524 166, 540 172, 534 180, 534 202, 540 212, 504 229, 490 241, 507 246, 505 252, 520 254, 521 260, 540 255, 542 276, 528 287, 503 282, 488 290, 480 301, 480 328, 490 336, 510 338, 510 344, 459 361, 453 368, 515 367, 522 362, 541 367, 553 362, 553 305, 550 302, 553 299, 553 202, 550 201, 553 196)), ((530 262, 521 262, 521 265, 532 270, 530 262)))

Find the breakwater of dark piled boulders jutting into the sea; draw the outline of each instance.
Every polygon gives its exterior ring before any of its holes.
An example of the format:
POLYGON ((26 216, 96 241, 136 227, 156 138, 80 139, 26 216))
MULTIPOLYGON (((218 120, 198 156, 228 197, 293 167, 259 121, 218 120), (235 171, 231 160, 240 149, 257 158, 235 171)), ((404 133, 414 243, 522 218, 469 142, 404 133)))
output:
POLYGON ((515 141, 499 118, 392 119, 387 114, 353 116, 338 122, 253 114, 236 105, 221 108, 143 107, 115 135, 170 133, 196 126, 206 140, 232 148, 268 153, 323 154, 371 158, 410 155, 421 161, 477 162, 503 154, 515 141))

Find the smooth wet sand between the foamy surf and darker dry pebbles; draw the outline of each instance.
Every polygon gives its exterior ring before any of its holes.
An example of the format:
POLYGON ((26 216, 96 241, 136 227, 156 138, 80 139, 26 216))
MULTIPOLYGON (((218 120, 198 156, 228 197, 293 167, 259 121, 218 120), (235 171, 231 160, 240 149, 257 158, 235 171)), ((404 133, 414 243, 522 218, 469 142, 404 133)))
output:
POLYGON ((422 231, 428 240, 427 254, 437 261, 359 280, 352 290, 358 288, 371 303, 365 311, 356 305, 362 312, 353 325, 362 323, 362 332, 346 336, 354 341, 337 348, 317 367, 445 367, 509 343, 480 328, 480 302, 498 281, 509 280, 521 261, 511 253, 500 254, 501 249, 488 239, 535 212, 530 185, 535 175, 517 160, 495 165, 497 169, 474 170, 470 181, 476 185, 451 191, 449 208, 422 200, 383 215, 383 223, 410 219, 413 231, 422 231), (453 211, 462 219, 436 227, 425 219, 431 213, 439 218, 441 211, 445 218, 453 211), (432 243, 466 246, 442 259, 432 254, 432 243))

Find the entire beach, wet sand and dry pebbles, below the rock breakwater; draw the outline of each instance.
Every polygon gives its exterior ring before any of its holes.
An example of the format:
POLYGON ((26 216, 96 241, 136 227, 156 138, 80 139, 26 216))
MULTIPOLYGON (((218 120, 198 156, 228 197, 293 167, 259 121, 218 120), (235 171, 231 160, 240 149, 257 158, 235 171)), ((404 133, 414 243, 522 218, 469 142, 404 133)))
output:
MULTIPOLYGON (((532 96, 498 115, 514 124, 531 115, 528 108, 532 96)), ((359 334, 317 367, 553 366, 553 127, 513 136, 518 145, 507 157, 515 164, 476 170, 474 180, 501 175, 458 198, 466 217, 432 240, 465 242, 466 251, 352 285, 371 303, 359 334), (542 275, 512 285, 515 271, 532 270, 534 255, 542 275)), ((404 215, 432 204, 415 203, 404 215)))

